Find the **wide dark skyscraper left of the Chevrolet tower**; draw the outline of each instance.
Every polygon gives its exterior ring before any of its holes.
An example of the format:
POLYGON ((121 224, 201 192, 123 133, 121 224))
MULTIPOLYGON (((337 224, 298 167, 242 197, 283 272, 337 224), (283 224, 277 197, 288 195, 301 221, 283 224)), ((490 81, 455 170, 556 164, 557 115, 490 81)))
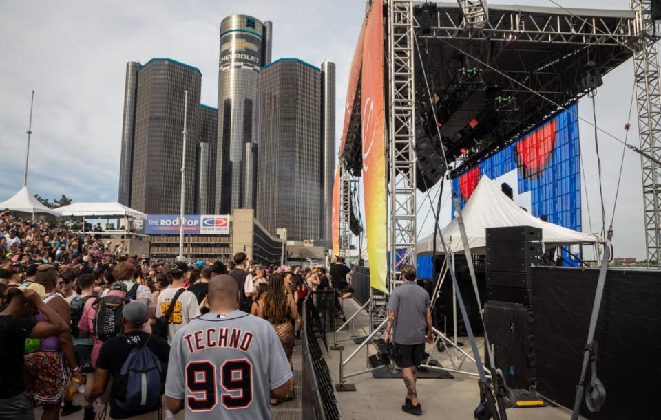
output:
MULTIPOLYGON (((185 211, 195 210, 196 151, 200 142, 200 85, 202 74, 196 67, 169 58, 153 58, 136 71, 127 65, 127 93, 125 93, 125 133, 127 120, 134 120, 131 174, 129 175, 129 206, 151 214, 177 214, 179 212, 182 163, 182 130, 184 128, 184 93, 188 91, 186 149, 185 211), (132 78, 129 80, 129 77, 132 78), (136 79, 137 91, 129 91, 136 79), (134 115, 127 102, 135 98, 134 115)), ((129 155, 125 143, 131 143, 123 133, 122 166, 129 155)), ((120 174, 120 193, 126 183, 125 172, 120 174)), ((121 199, 122 197, 120 197, 121 199)))

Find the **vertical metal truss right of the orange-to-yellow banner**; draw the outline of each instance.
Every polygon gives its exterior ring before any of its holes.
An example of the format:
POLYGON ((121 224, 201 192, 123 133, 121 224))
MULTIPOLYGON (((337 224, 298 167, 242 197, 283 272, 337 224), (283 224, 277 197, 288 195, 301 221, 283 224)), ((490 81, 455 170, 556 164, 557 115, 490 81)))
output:
POLYGON ((415 80, 413 4, 388 1, 388 289, 415 265, 415 80))

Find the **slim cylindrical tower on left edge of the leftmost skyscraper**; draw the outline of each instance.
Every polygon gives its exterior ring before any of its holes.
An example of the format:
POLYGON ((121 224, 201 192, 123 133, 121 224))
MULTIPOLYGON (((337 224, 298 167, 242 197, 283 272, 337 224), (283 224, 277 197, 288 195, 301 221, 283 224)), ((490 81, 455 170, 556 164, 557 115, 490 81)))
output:
POLYGON ((122 124, 122 151, 119 165, 119 193, 117 201, 124 206, 131 205, 131 179, 133 170, 133 144, 136 126, 136 97, 138 94, 138 71, 140 63, 126 63, 124 85, 124 121, 122 124))

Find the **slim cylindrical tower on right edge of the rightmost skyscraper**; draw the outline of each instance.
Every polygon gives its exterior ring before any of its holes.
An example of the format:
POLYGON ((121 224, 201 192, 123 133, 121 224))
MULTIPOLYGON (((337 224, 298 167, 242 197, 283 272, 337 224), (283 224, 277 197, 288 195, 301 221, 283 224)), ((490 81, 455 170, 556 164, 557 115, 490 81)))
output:
POLYGON ((330 241, 335 181, 335 63, 322 63, 322 204, 321 237, 330 241))

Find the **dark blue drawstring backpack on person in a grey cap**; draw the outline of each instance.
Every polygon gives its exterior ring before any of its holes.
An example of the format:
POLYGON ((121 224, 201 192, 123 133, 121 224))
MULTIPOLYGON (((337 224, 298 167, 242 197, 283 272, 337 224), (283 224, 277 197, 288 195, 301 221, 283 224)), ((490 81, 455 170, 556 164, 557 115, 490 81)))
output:
POLYGON ((163 367, 147 342, 135 345, 116 379, 113 397, 127 413, 141 414, 160 403, 165 385, 163 367))

